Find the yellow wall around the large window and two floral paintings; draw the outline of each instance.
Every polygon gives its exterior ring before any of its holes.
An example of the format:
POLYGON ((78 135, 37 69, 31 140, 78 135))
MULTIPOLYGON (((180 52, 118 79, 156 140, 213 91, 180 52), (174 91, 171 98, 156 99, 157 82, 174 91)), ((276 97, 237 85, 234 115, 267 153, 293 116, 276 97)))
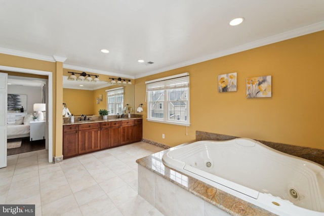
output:
POLYGON ((135 104, 144 104, 145 118, 145 81, 190 74, 191 125, 143 120, 143 138, 176 146, 204 131, 324 149, 323 44, 320 31, 136 79, 135 104), (218 93, 218 75, 231 72, 237 92, 218 93), (264 75, 272 75, 272 97, 247 99, 246 78, 264 75))

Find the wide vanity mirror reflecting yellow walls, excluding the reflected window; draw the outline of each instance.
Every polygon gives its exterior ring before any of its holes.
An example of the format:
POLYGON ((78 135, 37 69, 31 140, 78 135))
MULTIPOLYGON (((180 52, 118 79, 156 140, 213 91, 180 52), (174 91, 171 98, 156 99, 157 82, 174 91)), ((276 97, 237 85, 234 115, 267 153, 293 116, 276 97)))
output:
MULTIPOLYGON (((63 76, 63 103, 73 115, 99 115, 100 109, 107 109, 106 90, 114 89, 122 85, 111 84, 108 81, 85 82, 67 80, 63 76), (83 86, 80 86, 83 85, 83 86), (101 96, 102 95, 102 100, 101 96), (98 101, 99 99, 99 101, 98 101)), ((124 86, 124 106, 129 104, 131 114, 135 113, 135 86, 124 86)))

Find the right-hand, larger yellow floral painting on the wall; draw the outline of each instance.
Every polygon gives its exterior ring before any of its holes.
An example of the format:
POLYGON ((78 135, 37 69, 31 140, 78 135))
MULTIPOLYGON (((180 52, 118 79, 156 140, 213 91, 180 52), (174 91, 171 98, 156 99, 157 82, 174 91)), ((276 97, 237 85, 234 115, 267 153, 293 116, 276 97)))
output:
POLYGON ((271 76, 247 78, 247 98, 270 98, 271 76))

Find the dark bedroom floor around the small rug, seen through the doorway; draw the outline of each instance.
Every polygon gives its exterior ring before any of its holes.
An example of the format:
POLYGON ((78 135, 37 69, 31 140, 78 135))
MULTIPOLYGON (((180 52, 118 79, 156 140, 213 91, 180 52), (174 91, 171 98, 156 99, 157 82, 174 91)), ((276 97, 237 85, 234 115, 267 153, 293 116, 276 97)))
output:
POLYGON ((15 142, 19 140, 22 140, 21 147, 7 149, 7 155, 20 154, 20 153, 45 149, 45 140, 36 140, 36 141, 29 142, 29 137, 10 139, 7 141, 7 143, 15 142))

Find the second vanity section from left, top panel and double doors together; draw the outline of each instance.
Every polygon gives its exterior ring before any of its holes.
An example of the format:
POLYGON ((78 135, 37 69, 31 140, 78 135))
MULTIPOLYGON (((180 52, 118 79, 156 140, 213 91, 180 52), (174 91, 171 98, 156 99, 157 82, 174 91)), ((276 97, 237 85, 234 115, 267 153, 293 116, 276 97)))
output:
POLYGON ((78 153, 100 149, 100 123, 80 124, 78 132, 78 153))

